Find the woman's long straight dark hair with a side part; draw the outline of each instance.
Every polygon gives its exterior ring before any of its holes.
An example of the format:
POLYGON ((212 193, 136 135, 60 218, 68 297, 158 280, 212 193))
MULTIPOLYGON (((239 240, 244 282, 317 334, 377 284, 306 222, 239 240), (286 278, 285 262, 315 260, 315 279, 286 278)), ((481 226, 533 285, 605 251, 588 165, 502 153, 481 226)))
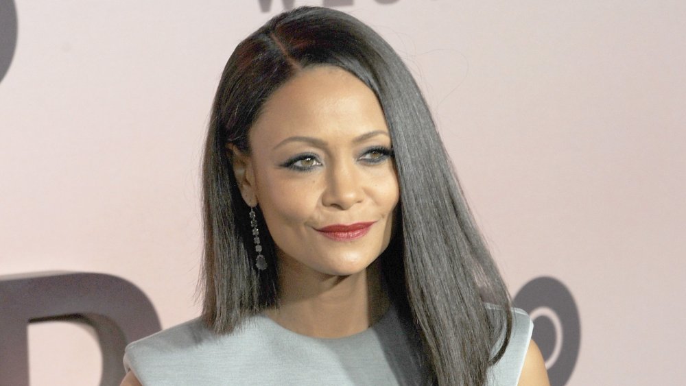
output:
POLYGON ((327 8, 275 16, 230 56, 217 88, 203 163, 203 318, 227 333, 276 302, 273 241, 263 217, 268 269, 250 256, 248 206, 228 144, 250 153, 248 132, 265 100, 298 71, 322 64, 357 76, 377 95, 391 134, 400 184, 399 229, 380 256, 392 297, 423 341, 427 381, 482 385, 507 346, 512 316, 489 317, 510 298, 486 248, 426 102, 395 51, 370 27, 327 8), (495 346, 499 336, 504 343, 495 346))

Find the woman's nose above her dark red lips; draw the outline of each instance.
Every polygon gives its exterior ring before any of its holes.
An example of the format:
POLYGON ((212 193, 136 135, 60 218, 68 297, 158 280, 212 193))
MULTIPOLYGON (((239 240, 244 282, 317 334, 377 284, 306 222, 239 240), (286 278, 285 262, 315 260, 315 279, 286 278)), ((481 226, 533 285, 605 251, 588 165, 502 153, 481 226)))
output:
POLYGON ((326 184, 322 194, 324 206, 346 210, 364 199, 362 176, 352 162, 327 169, 326 184))

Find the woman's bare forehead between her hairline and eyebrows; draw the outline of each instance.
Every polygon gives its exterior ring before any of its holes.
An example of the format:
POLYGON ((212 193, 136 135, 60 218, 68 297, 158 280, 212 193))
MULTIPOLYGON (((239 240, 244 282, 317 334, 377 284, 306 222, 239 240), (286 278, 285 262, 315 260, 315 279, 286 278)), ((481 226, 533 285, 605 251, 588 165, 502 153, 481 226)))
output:
POLYGON ((388 132, 373 91, 338 67, 305 69, 269 97, 250 130, 253 148, 289 136, 346 141, 370 131, 388 132))

